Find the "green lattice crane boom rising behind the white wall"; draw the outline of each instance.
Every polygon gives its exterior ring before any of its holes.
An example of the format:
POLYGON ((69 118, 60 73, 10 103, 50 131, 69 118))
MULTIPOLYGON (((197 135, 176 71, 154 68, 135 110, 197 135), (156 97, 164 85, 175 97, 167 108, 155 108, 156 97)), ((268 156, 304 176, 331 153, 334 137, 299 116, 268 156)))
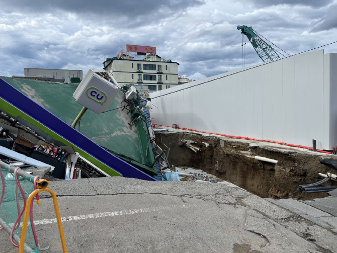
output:
POLYGON ((264 62, 281 59, 276 51, 254 32, 251 26, 237 26, 237 30, 241 30, 241 33, 247 36, 251 45, 264 62))

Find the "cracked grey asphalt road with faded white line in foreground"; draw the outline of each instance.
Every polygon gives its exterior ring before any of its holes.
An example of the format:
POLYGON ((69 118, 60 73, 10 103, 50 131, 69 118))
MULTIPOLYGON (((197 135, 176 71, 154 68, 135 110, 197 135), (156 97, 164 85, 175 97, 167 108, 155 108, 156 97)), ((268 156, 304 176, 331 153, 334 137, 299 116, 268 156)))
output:
MULTIPOLYGON (((100 178, 51 182, 68 252, 337 252, 337 236, 240 188, 100 178)), ((62 252, 52 199, 34 220, 42 252, 62 252)), ((0 252, 17 252, 0 231, 0 252)))

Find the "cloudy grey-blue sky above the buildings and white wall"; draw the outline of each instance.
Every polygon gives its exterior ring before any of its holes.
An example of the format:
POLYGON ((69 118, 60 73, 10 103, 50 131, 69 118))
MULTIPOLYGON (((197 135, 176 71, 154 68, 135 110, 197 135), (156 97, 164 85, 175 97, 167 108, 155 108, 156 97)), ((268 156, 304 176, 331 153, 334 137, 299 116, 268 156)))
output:
MULTIPOLYGON (((242 35, 254 30, 289 54, 337 40, 337 0, 3 0, 0 75, 24 67, 103 67, 126 44, 155 46, 198 79, 242 67, 242 35)), ((324 47, 337 52, 337 43, 324 47)), ((245 66, 261 63, 247 41, 245 66)))

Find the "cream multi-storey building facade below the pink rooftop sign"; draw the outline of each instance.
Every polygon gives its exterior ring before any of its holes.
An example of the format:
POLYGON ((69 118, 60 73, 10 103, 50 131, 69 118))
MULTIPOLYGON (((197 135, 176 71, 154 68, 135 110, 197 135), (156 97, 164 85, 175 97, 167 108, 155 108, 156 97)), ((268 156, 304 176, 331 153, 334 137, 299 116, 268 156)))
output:
POLYGON ((125 55, 107 58, 103 63, 120 86, 131 84, 137 89, 161 91, 179 85, 178 62, 164 60, 156 54, 125 55))

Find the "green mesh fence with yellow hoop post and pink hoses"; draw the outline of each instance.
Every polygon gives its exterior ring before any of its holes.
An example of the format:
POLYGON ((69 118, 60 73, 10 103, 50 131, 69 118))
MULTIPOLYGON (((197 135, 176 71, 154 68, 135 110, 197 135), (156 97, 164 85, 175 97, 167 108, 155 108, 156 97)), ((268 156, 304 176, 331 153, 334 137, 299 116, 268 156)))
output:
POLYGON ((38 194, 47 191, 51 194, 57 218, 63 252, 67 252, 56 195, 47 188, 49 182, 32 176, 20 167, 0 160, 0 228, 9 233, 9 241, 19 248, 19 252, 40 252, 34 227, 33 202, 38 194))

